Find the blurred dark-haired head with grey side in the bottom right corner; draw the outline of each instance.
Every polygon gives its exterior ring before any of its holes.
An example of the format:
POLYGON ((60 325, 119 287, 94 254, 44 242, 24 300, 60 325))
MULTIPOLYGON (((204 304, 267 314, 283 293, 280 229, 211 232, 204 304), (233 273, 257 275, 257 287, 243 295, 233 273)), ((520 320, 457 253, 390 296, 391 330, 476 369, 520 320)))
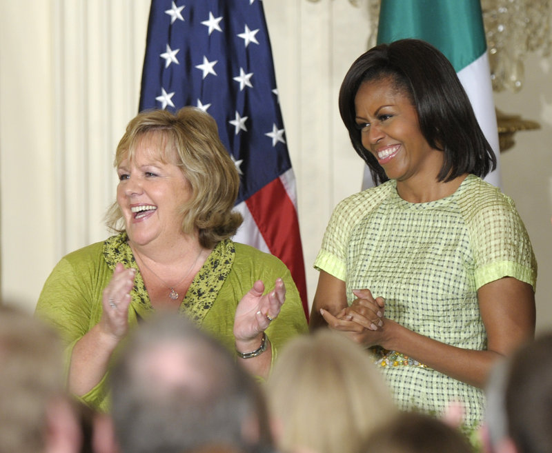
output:
POLYGON ((497 365, 486 389, 487 450, 552 451, 552 333, 497 365))

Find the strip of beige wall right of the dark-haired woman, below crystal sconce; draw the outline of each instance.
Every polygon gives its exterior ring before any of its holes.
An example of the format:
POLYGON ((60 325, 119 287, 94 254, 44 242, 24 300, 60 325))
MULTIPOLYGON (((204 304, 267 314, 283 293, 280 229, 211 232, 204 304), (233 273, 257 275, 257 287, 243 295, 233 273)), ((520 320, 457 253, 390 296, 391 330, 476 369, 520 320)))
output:
POLYGON ((540 123, 540 130, 517 132, 515 146, 501 155, 502 189, 516 203, 537 256, 537 328, 552 328, 552 59, 530 54, 525 86, 517 94, 495 94, 508 114, 540 123))

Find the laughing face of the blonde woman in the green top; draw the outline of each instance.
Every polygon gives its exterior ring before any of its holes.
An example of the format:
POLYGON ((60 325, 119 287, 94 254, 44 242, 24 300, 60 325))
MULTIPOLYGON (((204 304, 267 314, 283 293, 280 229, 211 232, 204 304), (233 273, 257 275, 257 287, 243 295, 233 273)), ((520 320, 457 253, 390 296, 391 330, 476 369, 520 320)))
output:
POLYGON ((124 157, 117 167, 117 204, 133 245, 166 245, 184 234, 179 210, 192 190, 175 164, 175 151, 159 150, 159 142, 142 138, 132 159, 124 157))

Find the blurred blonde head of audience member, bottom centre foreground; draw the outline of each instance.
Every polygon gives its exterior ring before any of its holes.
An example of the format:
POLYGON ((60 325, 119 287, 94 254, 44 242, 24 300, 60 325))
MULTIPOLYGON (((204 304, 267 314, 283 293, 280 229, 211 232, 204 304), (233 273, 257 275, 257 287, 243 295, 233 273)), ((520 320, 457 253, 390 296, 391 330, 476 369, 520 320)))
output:
POLYGON ((342 334, 318 330, 290 341, 266 387, 281 450, 355 452, 396 413, 391 392, 366 350, 342 334))

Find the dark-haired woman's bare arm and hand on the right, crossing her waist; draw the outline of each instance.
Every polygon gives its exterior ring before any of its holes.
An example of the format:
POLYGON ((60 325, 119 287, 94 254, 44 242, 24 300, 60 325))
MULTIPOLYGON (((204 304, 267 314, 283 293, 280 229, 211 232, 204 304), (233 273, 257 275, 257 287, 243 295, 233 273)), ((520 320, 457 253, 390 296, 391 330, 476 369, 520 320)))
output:
POLYGON ((447 345, 384 319, 377 330, 366 328, 366 318, 350 310, 351 320, 337 319, 324 312, 331 328, 346 332, 366 347, 381 345, 387 350, 402 352, 459 381, 483 387, 494 361, 535 333, 535 295, 531 285, 513 277, 504 277, 483 285, 477 291, 483 324, 487 332, 487 350, 466 350, 447 345), (355 330, 356 329, 356 330, 355 330))

